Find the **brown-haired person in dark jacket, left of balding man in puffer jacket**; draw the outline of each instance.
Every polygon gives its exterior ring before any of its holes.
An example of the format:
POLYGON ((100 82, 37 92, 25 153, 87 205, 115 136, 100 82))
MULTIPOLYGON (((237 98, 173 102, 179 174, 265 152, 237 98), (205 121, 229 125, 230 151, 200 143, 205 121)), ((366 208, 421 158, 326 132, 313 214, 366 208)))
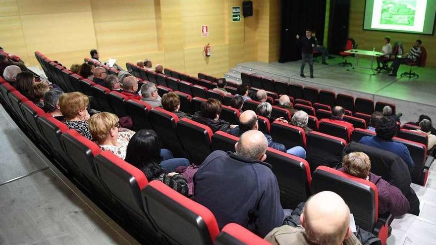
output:
POLYGON ((195 112, 192 120, 209 126, 214 133, 217 131, 228 133, 235 125, 230 125, 230 123, 219 119, 221 109, 221 101, 216 98, 210 98, 201 104, 200 111, 195 112))

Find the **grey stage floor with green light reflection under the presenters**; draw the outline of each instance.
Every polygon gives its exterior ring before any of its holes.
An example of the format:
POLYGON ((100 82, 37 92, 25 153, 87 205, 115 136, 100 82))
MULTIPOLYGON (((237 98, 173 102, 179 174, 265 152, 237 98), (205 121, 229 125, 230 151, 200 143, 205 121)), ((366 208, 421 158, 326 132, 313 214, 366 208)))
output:
MULTIPOLYGON (((375 102, 385 101, 396 104, 397 111, 403 113, 401 122, 417 121, 419 115, 427 114, 436 118, 436 68, 413 67, 419 78, 390 77, 386 71, 376 75, 370 69, 370 59, 359 58, 359 67, 342 67, 341 57, 327 60, 328 65, 314 63, 314 78, 309 78, 309 65, 306 63, 306 78, 300 77, 301 61, 287 63, 278 62, 246 62, 230 69, 225 74, 229 80, 241 83, 241 72, 258 74, 274 80, 288 83, 326 89, 337 93, 348 94, 354 97, 370 98, 375 102)), ((348 61, 354 62, 353 58, 348 61)), ((374 62, 374 67, 377 63, 374 62)), ((409 66, 401 65, 398 74, 409 70, 409 66)), ((436 120, 436 119, 435 119, 436 120)))

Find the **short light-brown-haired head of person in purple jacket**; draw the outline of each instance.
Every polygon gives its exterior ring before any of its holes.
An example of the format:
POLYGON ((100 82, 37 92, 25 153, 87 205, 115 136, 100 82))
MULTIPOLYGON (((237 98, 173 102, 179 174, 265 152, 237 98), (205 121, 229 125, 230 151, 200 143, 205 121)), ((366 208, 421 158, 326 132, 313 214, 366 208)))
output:
POLYGON ((362 179, 368 178, 371 170, 371 160, 363 152, 351 152, 342 159, 344 172, 362 179))

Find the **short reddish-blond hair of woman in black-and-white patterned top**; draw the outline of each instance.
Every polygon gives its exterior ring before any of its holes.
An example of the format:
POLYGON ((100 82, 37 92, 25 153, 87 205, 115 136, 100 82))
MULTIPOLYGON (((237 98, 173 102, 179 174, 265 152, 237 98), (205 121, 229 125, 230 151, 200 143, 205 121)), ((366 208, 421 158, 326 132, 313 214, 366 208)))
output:
POLYGON ((88 121, 89 114, 86 107, 89 98, 80 92, 71 92, 59 97, 59 109, 67 120, 77 119, 88 121))

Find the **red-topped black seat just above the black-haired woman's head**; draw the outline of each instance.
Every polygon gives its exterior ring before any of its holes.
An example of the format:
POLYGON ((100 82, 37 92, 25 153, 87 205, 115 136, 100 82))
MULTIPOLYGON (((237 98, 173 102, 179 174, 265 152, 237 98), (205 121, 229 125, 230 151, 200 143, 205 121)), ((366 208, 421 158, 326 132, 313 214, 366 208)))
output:
POLYGON ((127 114, 132 118, 135 131, 152 129, 149 113, 152 106, 142 100, 129 99, 126 101, 127 114))

